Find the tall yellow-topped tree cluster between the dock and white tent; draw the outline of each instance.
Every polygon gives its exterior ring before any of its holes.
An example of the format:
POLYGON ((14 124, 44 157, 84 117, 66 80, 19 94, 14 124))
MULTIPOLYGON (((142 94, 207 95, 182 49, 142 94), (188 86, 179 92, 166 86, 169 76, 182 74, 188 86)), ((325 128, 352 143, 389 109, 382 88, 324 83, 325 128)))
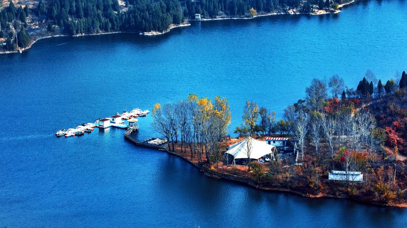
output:
POLYGON ((152 111, 153 128, 170 143, 168 149, 190 152, 191 159, 207 161, 221 159, 220 139, 230 124, 230 107, 226 98, 190 94, 178 103, 156 104, 152 111), (177 148, 179 147, 179 148, 177 148))

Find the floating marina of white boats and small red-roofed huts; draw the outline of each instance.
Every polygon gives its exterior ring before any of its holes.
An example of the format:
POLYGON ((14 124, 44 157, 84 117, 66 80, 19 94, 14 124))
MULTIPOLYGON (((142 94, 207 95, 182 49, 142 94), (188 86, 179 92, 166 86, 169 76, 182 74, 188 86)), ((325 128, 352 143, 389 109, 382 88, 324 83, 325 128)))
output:
POLYGON ((82 123, 81 125, 78 125, 75 128, 68 128, 68 129, 61 129, 60 131, 57 131, 55 133, 56 137, 61 137, 65 136, 66 138, 68 137, 74 137, 74 136, 82 136, 84 133, 91 133, 95 127, 97 128, 108 128, 108 127, 117 127, 117 128, 122 128, 122 129, 127 129, 130 127, 130 129, 133 131, 135 129, 138 129, 137 126, 137 121, 138 119, 135 119, 137 117, 145 117, 147 114, 149 114, 149 110, 144 110, 142 111, 139 108, 132 109, 130 112, 127 112, 126 110, 122 114, 115 114, 110 117, 106 118, 98 118, 94 123, 82 123))

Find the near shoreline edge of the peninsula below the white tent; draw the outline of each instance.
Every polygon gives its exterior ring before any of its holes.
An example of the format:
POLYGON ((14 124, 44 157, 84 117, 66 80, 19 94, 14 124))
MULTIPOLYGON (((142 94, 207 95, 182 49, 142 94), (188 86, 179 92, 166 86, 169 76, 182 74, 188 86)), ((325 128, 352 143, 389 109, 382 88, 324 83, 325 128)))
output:
POLYGON ((255 189, 263 190, 263 191, 270 191, 270 192, 285 192, 285 193, 292 193, 296 194, 297 196, 301 197, 306 197, 306 198, 331 198, 331 199, 342 199, 342 200, 350 200, 354 202, 358 202, 361 204, 366 204, 366 205, 371 205, 371 206, 380 206, 380 207, 395 207, 395 208, 407 208, 407 204, 381 204, 381 203, 376 203, 372 201, 364 201, 361 199, 356 199, 356 198, 351 198, 351 197, 344 197, 344 196, 334 196, 331 194, 324 194, 322 192, 313 195, 313 194, 308 194, 304 193, 301 191, 296 191, 293 189, 288 189, 288 188, 283 188, 283 187, 264 187, 264 186, 259 186, 259 184, 256 183, 255 180, 249 178, 249 177, 244 177, 244 176, 238 176, 238 175, 233 175, 233 174, 228 174, 228 173, 222 173, 216 170, 211 170, 210 168, 206 167, 204 165, 199 165, 193 162, 192 160, 188 159, 187 157, 183 156, 182 154, 179 154, 177 152, 169 151, 168 149, 161 150, 164 151, 170 155, 177 156, 184 161, 186 161, 188 164, 192 165, 193 167, 197 168, 203 175, 210 177, 210 178, 215 178, 215 179, 221 179, 221 180, 226 180, 226 181, 232 181, 235 183, 239 183, 242 185, 246 185, 249 187, 253 187, 255 189))

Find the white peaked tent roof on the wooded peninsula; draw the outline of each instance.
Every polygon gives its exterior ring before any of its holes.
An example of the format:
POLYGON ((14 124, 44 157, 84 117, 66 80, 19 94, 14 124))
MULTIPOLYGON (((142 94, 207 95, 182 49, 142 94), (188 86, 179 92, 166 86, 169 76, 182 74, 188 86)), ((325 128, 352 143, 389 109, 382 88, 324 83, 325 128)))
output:
POLYGON ((249 137, 248 139, 230 145, 226 153, 232 155, 235 159, 247 158, 248 145, 251 148, 251 159, 258 159, 275 150, 275 146, 269 145, 265 141, 259 141, 249 137))

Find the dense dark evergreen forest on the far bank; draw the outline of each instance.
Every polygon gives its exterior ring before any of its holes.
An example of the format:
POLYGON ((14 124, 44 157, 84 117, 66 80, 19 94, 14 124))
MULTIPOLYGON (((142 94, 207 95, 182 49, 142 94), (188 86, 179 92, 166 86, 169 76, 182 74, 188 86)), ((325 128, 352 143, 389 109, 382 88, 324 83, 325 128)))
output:
MULTIPOLYGON (((170 24, 203 18, 250 17, 257 13, 286 12, 297 9, 309 13, 313 8, 335 9, 342 0, 40 0, 17 6, 3 0, 0 9, 0 38, 7 39, 6 49, 14 49, 12 41, 21 31, 20 47, 30 43, 24 32, 38 22, 48 32, 56 29, 66 35, 101 31, 164 31, 170 24), (5 3, 6 2, 6 3, 5 3), (30 17, 30 20, 27 18, 30 17), (28 23, 27 23, 28 21, 28 23)), ((17 37, 18 39, 18 37, 17 37)), ((15 42, 14 42, 15 43, 15 42)), ((19 42, 20 43, 20 42, 19 42)))

